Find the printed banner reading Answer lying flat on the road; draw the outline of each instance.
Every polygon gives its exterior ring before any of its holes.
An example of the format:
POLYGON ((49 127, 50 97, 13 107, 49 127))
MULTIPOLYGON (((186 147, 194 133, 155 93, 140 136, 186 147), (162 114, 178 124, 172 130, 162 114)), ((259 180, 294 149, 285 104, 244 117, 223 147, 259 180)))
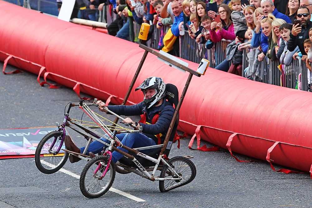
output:
POLYGON ((0 129, 0 159, 34 157, 39 141, 57 127, 0 129))

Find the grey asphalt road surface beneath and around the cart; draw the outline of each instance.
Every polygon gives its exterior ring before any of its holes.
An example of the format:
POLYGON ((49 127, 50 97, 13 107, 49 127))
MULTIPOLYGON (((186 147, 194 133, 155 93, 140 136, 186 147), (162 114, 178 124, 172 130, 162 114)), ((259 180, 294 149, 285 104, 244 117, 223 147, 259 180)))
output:
MULTIPOLYGON (((7 66, 6 72, 14 69, 7 66)), ((63 119, 65 105, 79 99, 69 88, 41 87, 36 79, 29 72, 0 74, 1 129, 55 126, 63 119)), ((81 112, 73 115, 81 116, 81 112)), ((84 146, 83 138, 73 137, 78 146, 84 146)), ((0 207, 312 207, 309 174, 278 173, 266 162, 240 163, 223 149, 190 150, 188 142, 189 138, 182 139, 181 148, 174 145, 170 153, 171 157, 194 156, 197 176, 186 186, 161 193, 157 181, 116 173, 112 187, 144 200, 141 202, 113 191, 97 199, 84 197, 77 179, 84 161, 64 165, 76 175, 61 171, 46 175, 37 169, 34 158, 0 160, 0 207)))

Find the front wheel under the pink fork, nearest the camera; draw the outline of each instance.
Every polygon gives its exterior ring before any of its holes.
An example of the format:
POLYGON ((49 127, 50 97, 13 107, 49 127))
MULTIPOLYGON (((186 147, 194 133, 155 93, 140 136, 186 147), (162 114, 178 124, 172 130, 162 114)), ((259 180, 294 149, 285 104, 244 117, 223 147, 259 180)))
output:
POLYGON ((81 171, 79 186, 81 193, 87 198, 98 198, 103 196, 113 185, 115 180, 115 164, 113 161, 110 161, 110 167, 105 175, 102 176, 103 171, 107 165, 107 156, 100 155, 94 157, 90 160, 81 171), (101 163, 99 163, 101 162, 101 163), (105 164, 103 165, 102 162, 105 164), (96 172, 98 164, 101 164, 101 167, 96 172))

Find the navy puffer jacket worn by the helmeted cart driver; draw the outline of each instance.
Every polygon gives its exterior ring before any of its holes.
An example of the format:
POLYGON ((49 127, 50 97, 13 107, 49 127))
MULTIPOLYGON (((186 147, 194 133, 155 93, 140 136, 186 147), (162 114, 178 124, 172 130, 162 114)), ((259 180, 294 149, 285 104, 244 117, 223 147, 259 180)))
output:
POLYGON ((158 143, 158 139, 155 135, 160 133, 163 135, 161 136, 161 142, 163 143, 175 111, 173 106, 171 106, 171 104, 166 100, 164 100, 160 106, 153 106, 151 108, 145 107, 143 102, 131 106, 108 106, 108 108, 114 113, 124 116, 138 116, 143 115, 145 112, 146 122, 148 123, 152 123, 153 117, 160 111, 158 120, 155 124, 149 125, 140 123, 140 126, 143 127, 142 133, 149 138, 152 138, 156 144, 158 143))

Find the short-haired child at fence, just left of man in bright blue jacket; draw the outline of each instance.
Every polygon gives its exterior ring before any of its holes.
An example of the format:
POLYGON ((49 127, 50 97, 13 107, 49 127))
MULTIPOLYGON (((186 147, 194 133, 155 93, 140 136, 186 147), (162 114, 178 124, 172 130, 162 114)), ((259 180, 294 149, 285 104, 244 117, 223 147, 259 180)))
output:
POLYGON ((153 24, 156 25, 157 29, 160 30, 160 36, 159 36, 159 42, 158 42, 158 46, 162 47, 163 46, 163 37, 166 34, 166 30, 168 28, 163 27, 164 26, 168 26, 171 25, 173 23, 171 17, 166 17, 166 18, 161 18, 160 17, 160 12, 163 9, 163 1, 161 0, 157 0, 154 2, 153 7, 156 11, 156 14, 154 15, 154 20, 153 20, 153 24))

